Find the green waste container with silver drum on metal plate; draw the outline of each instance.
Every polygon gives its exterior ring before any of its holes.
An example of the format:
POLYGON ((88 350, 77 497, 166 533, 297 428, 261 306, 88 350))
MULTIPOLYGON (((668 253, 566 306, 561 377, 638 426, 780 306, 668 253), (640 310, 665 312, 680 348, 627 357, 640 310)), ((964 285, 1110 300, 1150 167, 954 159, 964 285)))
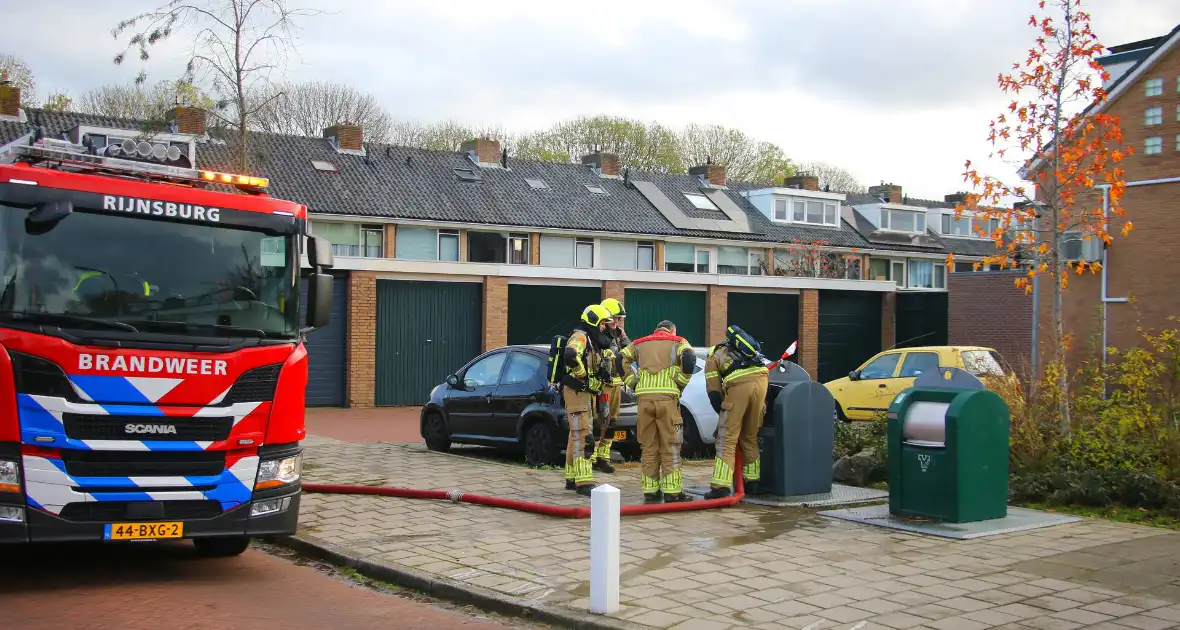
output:
POLYGON ((889 407, 889 506, 972 523, 1008 516, 1008 405, 958 368, 922 375, 889 407))

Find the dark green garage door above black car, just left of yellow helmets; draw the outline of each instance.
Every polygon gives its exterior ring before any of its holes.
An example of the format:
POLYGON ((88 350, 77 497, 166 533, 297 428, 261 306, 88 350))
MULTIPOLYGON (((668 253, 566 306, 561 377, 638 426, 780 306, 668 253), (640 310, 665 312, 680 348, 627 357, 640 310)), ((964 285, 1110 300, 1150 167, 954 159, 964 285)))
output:
POLYGON ((599 302, 601 287, 509 284, 509 343, 549 344, 553 335, 569 335, 582 310, 599 302))

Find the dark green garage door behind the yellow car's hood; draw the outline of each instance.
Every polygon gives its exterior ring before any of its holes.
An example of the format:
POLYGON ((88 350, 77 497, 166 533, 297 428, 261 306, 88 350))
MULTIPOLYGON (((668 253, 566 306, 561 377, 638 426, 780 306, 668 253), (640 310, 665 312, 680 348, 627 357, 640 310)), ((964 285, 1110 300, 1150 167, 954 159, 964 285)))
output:
POLYGON ((847 376, 881 352, 881 294, 819 291, 819 382, 847 376))

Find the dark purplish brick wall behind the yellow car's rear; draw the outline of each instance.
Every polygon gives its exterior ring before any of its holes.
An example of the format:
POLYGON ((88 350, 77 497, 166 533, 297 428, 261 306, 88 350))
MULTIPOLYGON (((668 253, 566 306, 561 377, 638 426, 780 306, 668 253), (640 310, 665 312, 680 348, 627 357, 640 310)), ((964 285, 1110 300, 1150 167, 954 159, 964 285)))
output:
POLYGON ((1022 376, 1032 343, 1032 296, 1016 287, 1021 271, 948 274, 948 343, 995 348, 1022 376))

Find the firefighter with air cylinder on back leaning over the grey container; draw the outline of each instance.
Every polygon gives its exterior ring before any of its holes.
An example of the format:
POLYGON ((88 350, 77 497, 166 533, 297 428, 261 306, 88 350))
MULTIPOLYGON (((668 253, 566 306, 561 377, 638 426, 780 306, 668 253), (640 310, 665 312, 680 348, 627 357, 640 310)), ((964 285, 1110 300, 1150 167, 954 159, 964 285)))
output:
POLYGON ((741 445, 742 479, 747 494, 758 493, 761 461, 758 432, 766 413, 766 388, 771 373, 766 368, 758 341, 736 326, 726 329, 726 341, 709 349, 704 361, 704 387, 709 402, 717 412, 716 460, 713 462, 707 499, 728 497, 733 492, 734 458, 741 445))

